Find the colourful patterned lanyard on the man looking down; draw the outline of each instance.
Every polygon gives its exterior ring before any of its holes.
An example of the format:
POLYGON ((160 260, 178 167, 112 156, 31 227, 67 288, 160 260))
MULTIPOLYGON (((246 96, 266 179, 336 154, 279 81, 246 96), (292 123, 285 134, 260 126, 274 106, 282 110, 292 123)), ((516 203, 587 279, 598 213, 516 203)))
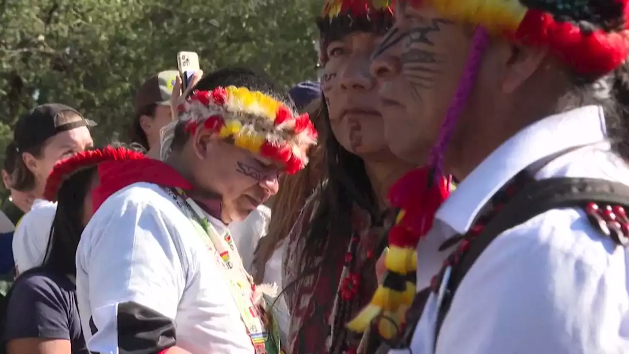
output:
POLYGON ((247 328, 247 334, 251 338, 255 353, 267 354, 266 341, 269 336, 262 326, 259 311, 252 301, 251 276, 242 265, 231 234, 226 232, 223 237, 220 237, 218 231, 205 217, 201 207, 194 200, 186 197, 181 189, 165 188, 165 191, 174 198, 184 214, 199 231, 197 234, 208 246, 209 251, 216 251, 219 254, 221 266, 226 271, 226 280, 230 286, 231 296, 236 302, 238 311, 240 311, 240 318, 247 328))

